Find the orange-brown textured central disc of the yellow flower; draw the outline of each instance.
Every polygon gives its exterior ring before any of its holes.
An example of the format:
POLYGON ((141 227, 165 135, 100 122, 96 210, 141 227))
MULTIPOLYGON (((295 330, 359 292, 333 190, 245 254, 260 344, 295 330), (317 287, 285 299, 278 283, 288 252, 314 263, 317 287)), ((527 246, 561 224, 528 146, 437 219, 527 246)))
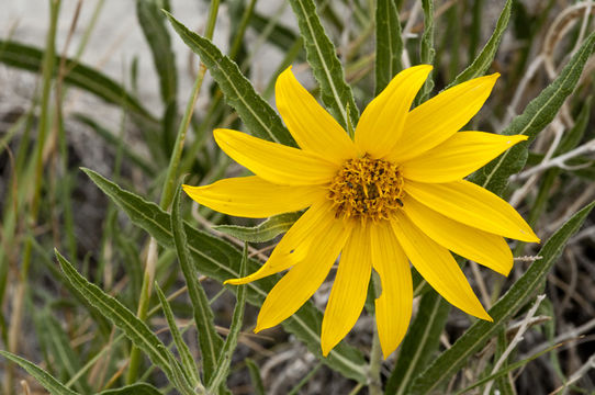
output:
POLYGON ((403 206, 403 177, 395 163, 381 159, 347 160, 328 188, 337 218, 389 219, 403 206))

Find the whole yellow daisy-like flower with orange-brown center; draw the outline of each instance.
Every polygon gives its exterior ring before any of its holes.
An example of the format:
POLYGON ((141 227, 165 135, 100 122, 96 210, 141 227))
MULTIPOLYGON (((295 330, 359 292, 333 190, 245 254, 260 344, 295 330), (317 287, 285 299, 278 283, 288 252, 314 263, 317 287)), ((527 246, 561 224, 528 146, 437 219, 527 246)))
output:
POLYGON ((498 77, 475 78, 409 111, 431 70, 400 72, 368 104, 350 139, 298 82, 279 76, 277 108, 300 148, 214 131, 218 146, 256 176, 184 185, 197 202, 244 217, 310 207, 244 284, 290 269, 267 296, 255 331, 291 316, 321 286, 340 253, 321 335, 324 356, 361 314, 371 271, 381 280, 377 327, 386 358, 412 315, 409 262, 448 302, 492 320, 450 251, 507 275, 504 237, 539 241, 504 200, 463 180, 527 136, 458 132, 481 109, 498 77))

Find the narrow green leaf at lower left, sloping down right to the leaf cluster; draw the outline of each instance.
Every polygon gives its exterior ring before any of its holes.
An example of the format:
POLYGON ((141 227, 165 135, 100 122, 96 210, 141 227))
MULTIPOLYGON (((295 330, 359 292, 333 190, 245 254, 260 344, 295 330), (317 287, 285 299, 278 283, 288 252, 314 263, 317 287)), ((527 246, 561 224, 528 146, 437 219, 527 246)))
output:
MULTIPOLYGON (((164 373, 173 382, 177 365, 170 365, 171 352, 155 336, 148 326, 138 319, 130 309, 114 297, 104 293, 99 286, 91 284, 80 275, 70 262, 55 250, 64 275, 85 296, 85 298, 101 311, 103 316, 110 319, 116 327, 122 329, 132 342, 143 350, 148 358, 158 365, 164 373)), ((172 356, 171 356, 172 357, 172 356)))

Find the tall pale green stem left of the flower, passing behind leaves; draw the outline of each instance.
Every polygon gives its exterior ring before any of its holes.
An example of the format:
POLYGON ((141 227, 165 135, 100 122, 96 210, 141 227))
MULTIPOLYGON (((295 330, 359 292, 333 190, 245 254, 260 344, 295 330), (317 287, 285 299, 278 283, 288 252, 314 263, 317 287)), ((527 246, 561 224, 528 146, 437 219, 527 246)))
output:
MULTIPOLYGON (((217 19, 218 11, 218 0, 211 2, 211 8, 209 11, 209 20, 206 23, 205 37, 211 40, 213 37, 213 32, 215 30, 215 22, 217 19)), ((166 180, 164 183, 164 192, 161 193, 161 200, 159 205, 161 208, 167 210, 171 204, 173 199, 173 192, 176 190, 176 181, 178 179, 178 168, 180 163, 180 158, 182 156, 183 145, 186 140, 186 134, 188 132, 188 126, 190 125, 190 120, 192 119, 192 113, 194 112, 194 106, 197 104, 197 99, 199 98, 199 92, 204 81, 204 75, 206 74, 206 67, 201 63, 199 68, 199 75, 194 81, 194 87, 192 88, 192 93, 190 100, 186 106, 186 111, 178 128, 178 135, 176 136, 176 143, 173 144, 173 150, 169 158, 169 166, 167 169, 166 180)), ((153 291, 153 282, 155 281, 155 270, 157 267, 157 241, 151 237, 148 247, 147 260, 145 264, 145 274, 143 276, 143 285, 141 289, 141 298, 138 301, 137 316, 142 320, 145 320, 147 317, 148 305, 150 301, 150 294, 153 291)), ((136 347, 133 347, 131 350, 131 360, 128 372, 126 374, 126 383, 133 384, 138 376, 138 368, 141 365, 141 350, 136 347)))

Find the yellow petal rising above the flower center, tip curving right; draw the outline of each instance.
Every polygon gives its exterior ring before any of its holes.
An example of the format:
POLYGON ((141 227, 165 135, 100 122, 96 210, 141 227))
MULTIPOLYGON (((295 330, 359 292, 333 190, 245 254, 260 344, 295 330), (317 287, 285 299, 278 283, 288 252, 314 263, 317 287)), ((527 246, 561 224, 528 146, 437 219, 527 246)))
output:
POLYGON ((401 71, 368 104, 356 127, 356 144, 361 153, 380 158, 391 151, 403 134, 413 100, 430 71, 429 65, 401 71))

